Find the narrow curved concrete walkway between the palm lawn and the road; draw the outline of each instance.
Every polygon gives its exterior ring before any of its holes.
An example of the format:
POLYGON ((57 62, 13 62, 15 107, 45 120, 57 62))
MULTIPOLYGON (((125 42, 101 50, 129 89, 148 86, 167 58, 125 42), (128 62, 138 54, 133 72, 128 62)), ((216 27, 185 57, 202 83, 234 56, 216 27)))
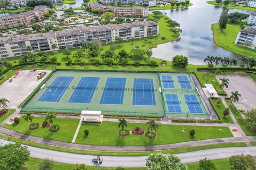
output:
POLYGON ((249 142, 256 141, 256 137, 242 137, 242 138, 215 138, 215 139, 205 139, 181 143, 172 143, 167 145, 154 145, 154 146, 94 146, 94 145, 81 145, 77 143, 68 143, 55 141, 50 139, 38 138, 31 135, 14 132, 9 129, 0 128, 0 133, 2 134, 11 134, 12 137, 18 139, 25 139, 33 141, 36 143, 43 143, 46 145, 59 146, 64 148, 71 149, 80 149, 80 150, 94 150, 94 151, 151 151, 151 150, 166 150, 174 148, 186 148, 194 146, 204 146, 204 145, 213 145, 218 143, 227 143, 227 142, 249 142))

